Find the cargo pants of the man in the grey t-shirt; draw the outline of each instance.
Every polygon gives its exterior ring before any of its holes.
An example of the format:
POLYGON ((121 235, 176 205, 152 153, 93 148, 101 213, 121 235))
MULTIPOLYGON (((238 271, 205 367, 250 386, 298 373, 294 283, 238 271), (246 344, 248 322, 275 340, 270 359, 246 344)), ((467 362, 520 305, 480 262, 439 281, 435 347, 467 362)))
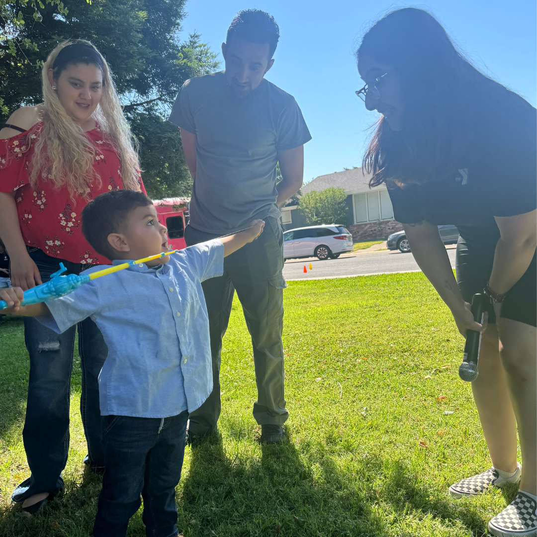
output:
MULTIPOLYGON (((187 226, 187 245, 215 238, 187 226)), ((237 291, 252 338, 257 402, 253 417, 259 425, 282 425, 288 417, 284 398, 284 349, 281 343, 286 287, 283 232, 279 220, 265 218, 263 233, 253 242, 224 258, 224 273, 203 282, 209 315, 213 358, 213 391, 200 408, 190 414, 188 430, 202 436, 216 429, 221 412, 220 359, 234 292, 237 291)))

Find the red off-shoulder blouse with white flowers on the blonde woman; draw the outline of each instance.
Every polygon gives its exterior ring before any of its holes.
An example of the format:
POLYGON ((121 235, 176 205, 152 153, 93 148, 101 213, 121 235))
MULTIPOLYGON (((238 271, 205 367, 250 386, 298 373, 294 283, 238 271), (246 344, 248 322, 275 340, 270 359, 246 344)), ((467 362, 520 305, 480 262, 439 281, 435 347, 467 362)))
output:
MULTIPOLYGON (((28 163, 42 127, 40 122, 25 133, 0 140, 0 192, 16 192, 20 229, 27 246, 72 263, 106 264, 108 260, 98 256, 82 235, 80 219, 91 198, 123 188, 119 156, 97 125, 86 135, 97 148, 93 166, 101 177, 101 186, 92 185, 88 199, 79 195, 71 199, 66 186, 56 189, 40 177, 34 190, 28 182, 28 163), (23 152, 27 140, 32 147, 23 152)), ((145 193, 141 178, 140 186, 145 193)))

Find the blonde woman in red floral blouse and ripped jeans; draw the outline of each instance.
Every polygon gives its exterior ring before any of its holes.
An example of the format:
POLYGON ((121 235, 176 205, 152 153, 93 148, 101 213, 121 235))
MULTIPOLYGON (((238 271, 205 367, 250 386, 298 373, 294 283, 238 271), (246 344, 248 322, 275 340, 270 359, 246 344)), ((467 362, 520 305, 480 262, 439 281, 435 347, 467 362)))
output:
MULTIPOLYGON (((88 41, 66 41, 42 69, 43 103, 19 108, 0 130, 0 236, 11 282, 23 289, 108 263, 81 232, 80 215, 97 195, 143 190, 133 137, 104 57, 88 41)), ((23 438, 31 477, 13 492, 37 513, 63 488, 69 450, 69 389, 75 328, 57 335, 25 317, 30 382, 23 438)), ((107 349, 88 318, 78 324, 81 413, 92 471, 104 465, 97 376, 107 349)))

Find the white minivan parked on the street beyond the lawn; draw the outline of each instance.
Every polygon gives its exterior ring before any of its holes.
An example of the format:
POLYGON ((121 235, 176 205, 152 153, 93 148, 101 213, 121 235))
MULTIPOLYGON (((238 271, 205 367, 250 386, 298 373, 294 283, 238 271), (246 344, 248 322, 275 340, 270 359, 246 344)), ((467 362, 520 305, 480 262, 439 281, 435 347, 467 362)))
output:
POLYGON ((352 234, 343 226, 311 226, 284 231, 284 258, 313 257, 337 259, 352 252, 352 234))

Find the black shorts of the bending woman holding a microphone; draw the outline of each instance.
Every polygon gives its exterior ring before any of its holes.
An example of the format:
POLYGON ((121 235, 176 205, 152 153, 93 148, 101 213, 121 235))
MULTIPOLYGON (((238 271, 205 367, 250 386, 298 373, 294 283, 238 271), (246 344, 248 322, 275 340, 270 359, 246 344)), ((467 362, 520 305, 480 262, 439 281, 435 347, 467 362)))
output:
MULTIPOLYGON (((459 237, 455 273, 463 298, 471 303, 475 293, 482 293, 494 263, 495 244, 465 241, 459 237)), ((537 326, 537 252, 522 278, 510 289, 502 304, 502 317, 537 326)), ((496 322, 489 304, 489 323, 496 322)))

